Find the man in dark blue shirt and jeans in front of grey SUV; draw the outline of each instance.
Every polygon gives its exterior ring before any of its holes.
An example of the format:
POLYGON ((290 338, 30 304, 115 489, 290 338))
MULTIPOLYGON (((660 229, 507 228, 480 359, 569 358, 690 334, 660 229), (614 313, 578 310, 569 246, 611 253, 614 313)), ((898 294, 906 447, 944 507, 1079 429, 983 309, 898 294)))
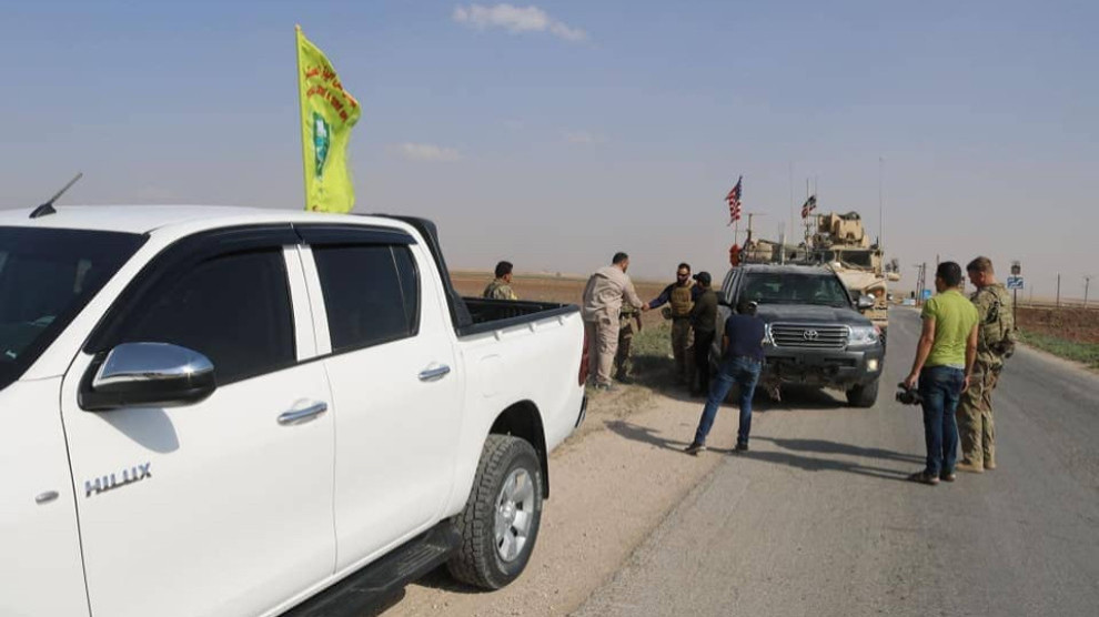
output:
POLYGON ((752 396, 756 392, 759 372, 763 370, 764 322, 756 316, 756 303, 742 300, 736 313, 725 321, 722 336, 722 365, 717 370, 709 388, 709 398, 703 408, 695 438, 686 447, 687 454, 698 454, 706 449, 706 435, 709 434, 717 416, 717 409, 733 388, 740 386, 740 426, 736 434, 736 449, 748 449, 748 434, 752 432, 752 396))

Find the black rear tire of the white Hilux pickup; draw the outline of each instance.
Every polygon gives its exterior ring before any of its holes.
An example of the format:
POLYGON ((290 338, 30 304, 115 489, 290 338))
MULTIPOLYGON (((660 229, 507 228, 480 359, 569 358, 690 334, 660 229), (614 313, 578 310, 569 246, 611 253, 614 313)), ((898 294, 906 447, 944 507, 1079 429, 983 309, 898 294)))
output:
MULTIPOLYGON (((542 525, 542 465, 538 463, 534 447, 517 437, 488 435, 481 453, 481 462, 477 464, 477 475, 473 481, 470 499, 462 514, 454 518, 455 527, 462 536, 462 545, 446 565, 451 576, 483 589, 500 589, 515 580, 531 559, 538 538, 538 529, 542 525), (516 549, 517 553, 508 559, 502 555, 508 552, 508 547, 497 544, 496 525, 497 516, 505 516, 500 506, 504 505, 505 509, 507 507, 506 503, 501 502, 506 488, 505 483, 513 474, 516 478, 525 478, 517 482, 530 482, 528 488, 533 494, 530 496, 528 507, 513 508, 516 516, 523 513, 528 518, 524 518, 525 539, 516 549)), ((525 494, 526 487, 523 492, 525 494)), ((506 517, 504 520, 506 522, 506 517)), ((511 542, 518 544, 517 523, 511 525, 505 535, 512 535, 511 542)), ((504 544, 507 544, 506 538, 504 544)), ((514 545, 511 548, 514 548, 514 545)))

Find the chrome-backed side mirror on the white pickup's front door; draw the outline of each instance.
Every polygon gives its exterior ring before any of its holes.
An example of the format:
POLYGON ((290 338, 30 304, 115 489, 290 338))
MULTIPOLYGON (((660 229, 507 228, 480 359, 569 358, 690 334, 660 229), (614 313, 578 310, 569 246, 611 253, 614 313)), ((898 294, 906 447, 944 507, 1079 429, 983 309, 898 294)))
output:
POLYGON ((190 405, 218 387, 206 356, 168 343, 123 343, 87 382, 80 405, 90 412, 190 405))

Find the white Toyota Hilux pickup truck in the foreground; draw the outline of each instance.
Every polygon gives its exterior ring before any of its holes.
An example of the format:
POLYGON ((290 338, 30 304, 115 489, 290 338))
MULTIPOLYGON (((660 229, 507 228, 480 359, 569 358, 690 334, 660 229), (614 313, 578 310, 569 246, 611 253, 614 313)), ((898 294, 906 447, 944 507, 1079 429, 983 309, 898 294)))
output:
POLYGON ((576 306, 463 300, 434 225, 0 212, 0 615, 355 614, 523 570, 576 306))

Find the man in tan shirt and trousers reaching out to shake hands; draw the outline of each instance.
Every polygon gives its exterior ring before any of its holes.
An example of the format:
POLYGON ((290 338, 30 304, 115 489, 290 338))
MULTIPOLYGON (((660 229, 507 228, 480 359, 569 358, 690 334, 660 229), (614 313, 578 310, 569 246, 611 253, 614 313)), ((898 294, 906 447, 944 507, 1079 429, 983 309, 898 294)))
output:
POLYGON ((584 286, 581 316, 587 334, 588 357, 595 365, 595 390, 611 390, 611 368, 618 351, 618 313, 623 301, 647 310, 626 275, 629 255, 615 253, 611 265, 595 271, 584 286), (595 352, 595 353, 592 353, 595 352))

